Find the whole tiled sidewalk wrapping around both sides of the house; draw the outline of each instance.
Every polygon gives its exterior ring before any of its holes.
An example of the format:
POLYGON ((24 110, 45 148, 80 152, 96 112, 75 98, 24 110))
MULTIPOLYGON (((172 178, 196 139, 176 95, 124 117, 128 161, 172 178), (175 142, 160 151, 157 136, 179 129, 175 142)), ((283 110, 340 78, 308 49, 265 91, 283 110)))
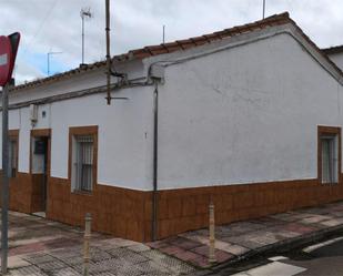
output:
MULTIPOLYGON (((10 275, 81 275, 79 228, 10 212, 10 275)), ((254 255, 343 231, 343 202, 215 227, 218 269, 254 255)), ((91 275, 195 275, 209 268, 209 232, 200 229, 154 243, 98 233, 91 239, 91 275)))

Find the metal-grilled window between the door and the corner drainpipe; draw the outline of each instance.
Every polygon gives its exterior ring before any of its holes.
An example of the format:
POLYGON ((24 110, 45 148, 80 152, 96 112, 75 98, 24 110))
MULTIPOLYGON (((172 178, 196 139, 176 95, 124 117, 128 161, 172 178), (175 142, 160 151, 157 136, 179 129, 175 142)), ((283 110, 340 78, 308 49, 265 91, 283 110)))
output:
POLYGON ((91 192, 93 182, 93 137, 75 136, 75 190, 91 192))

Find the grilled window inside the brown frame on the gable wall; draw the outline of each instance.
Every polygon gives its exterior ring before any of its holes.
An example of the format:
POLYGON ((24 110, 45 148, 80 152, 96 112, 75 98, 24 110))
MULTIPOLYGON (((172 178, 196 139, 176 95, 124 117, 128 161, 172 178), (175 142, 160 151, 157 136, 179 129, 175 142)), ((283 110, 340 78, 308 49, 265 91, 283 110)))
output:
POLYGON ((322 143, 322 183, 339 182, 337 135, 321 136, 322 143))

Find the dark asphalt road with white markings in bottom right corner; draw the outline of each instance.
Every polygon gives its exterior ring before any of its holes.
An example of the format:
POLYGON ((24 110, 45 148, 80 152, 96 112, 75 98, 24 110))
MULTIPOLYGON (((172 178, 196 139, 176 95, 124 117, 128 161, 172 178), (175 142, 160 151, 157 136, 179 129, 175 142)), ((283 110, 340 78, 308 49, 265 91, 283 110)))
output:
POLYGON ((248 267, 228 267, 209 275, 234 276, 342 276, 343 237, 329 239, 283 256, 261 258, 248 267), (238 272, 241 270, 241 272, 238 272))

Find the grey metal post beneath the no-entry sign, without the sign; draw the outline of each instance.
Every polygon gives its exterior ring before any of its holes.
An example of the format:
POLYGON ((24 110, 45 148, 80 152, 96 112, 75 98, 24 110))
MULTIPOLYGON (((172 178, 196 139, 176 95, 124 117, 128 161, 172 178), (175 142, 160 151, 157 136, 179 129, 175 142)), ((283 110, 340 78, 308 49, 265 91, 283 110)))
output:
POLYGON ((8 265, 8 207, 9 207, 9 119, 8 119, 8 89, 2 89, 2 204, 1 204, 1 272, 7 274, 8 265))

